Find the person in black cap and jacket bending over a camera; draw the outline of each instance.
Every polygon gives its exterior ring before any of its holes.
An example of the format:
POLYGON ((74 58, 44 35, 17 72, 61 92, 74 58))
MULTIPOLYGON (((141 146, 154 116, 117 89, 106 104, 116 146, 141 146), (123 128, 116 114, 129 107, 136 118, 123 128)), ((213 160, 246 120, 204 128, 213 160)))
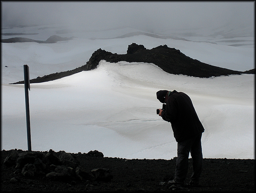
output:
POLYGON ((165 110, 159 109, 159 116, 172 125, 173 135, 178 142, 175 175, 168 184, 184 185, 188 173, 189 152, 192 157, 193 174, 190 185, 198 185, 203 169, 201 137, 204 127, 189 96, 182 92, 160 90, 156 98, 166 103, 165 110))

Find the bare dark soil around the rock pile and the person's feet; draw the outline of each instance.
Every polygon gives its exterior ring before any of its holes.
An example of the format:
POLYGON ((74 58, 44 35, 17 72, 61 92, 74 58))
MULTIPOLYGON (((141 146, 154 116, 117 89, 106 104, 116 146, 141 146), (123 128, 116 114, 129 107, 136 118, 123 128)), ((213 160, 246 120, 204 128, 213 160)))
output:
MULTIPOLYGON (((18 150, 18 152, 25 152, 18 150)), ((176 158, 171 160, 127 160, 125 158, 90 157, 86 153, 72 153, 80 162, 84 171, 95 168, 107 168, 113 174, 110 182, 73 181, 70 183, 51 181, 45 175, 24 177, 14 174, 14 167, 5 166, 8 151, 1 151, 1 192, 255 192, 255 160, 207 159, 199 187, 189 186, 192 175, 192 160, 184 187, 172 189, 167 184, 173 179, 176 158), (18 176, 20 182, 11 183, 12 177, 18 176)))

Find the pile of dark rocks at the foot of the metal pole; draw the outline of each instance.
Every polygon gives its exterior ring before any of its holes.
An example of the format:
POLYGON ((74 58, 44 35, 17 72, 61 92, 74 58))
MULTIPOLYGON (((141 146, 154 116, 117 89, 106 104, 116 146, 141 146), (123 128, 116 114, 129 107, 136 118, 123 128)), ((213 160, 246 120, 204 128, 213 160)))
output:
MULTIPOLYGON (((86 153, 84 153, 86 154, 86 153)), ((103 157, 103 153, 90 151, 87 156, 103 157)), ((91 171, 81 169, 76 156, 65 151, 54 152, 21 152, 16 149, 9 150, 9 155, 4 160, 4 165, 12 167, 14 174, 20 177, 10 179, 10 183, 20 182, 20 178, 44 176, 51 181, 76 182, 76 181, 102 181, 109 182, 113 178, 107 168, 95 168, 91 171)))

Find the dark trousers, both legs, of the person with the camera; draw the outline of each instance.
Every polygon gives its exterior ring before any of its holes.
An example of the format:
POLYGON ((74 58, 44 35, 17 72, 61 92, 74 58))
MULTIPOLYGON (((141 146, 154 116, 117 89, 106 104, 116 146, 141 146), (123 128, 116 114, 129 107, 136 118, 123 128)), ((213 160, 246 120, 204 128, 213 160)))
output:
POLYGON ((176 159, 176 169, 174 179, 177 182, 184 182, 188 173, 189 152, 192 158, 193 174, 191 181, 199 182, 203 169, 203 154, 201 145, 202 133, 196 137, 178 142, 178 157, 176 159))

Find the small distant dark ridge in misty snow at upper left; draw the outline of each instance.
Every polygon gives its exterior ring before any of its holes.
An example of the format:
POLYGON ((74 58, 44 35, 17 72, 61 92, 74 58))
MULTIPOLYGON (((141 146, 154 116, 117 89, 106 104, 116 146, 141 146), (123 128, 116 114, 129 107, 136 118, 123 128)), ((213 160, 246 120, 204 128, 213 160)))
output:
MULTIPOLYGON (((35 34, 37 34, 37 33, 35 33, 35 34)), ((52 35, 47 40, 42 41, 42 40, 33 40, 33 39, 29 39, 29 38, 15 37, 15 38, 2 39, 1 42, 2 43, 16 43, 16 42, 56 43, 57 41, 72 40, 73 38, 75 38, 75 37, 73 36, 70 38, 64 38, 64 37, 60 37, 58 35, 52 35)))

